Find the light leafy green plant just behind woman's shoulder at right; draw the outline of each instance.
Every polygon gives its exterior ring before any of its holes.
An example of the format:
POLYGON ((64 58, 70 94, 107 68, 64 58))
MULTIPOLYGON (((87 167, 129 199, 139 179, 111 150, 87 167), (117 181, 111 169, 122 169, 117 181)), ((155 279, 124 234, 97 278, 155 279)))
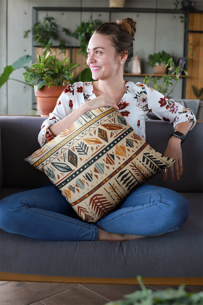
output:
POLYGON ((165 65, 165 68, 168 67, 167 74, 164 74, 161 78, 158 78, 156 76, 153 79, 151 78, 152 76, 145 76, 143 83, 145 85, 149 86, 149 84, 151 82, 153 82, 155 90, 161 92, 166 97, 169 96, 169 94, 173 91, 174 87, 176 86, 181 72, 183 71, 186 76, 188 75, 188 72, 185 71, 181 65, 177 66, 175 68, 175 70, 173 72, 171 72, 174 69, 174 66, 175 66, 175 64, 171 57, 171 58, 169 58, 169 60, 167 61, 167 64, 165 65), (173 83, 171 82, 172 79, 175 81, 175 85, 173 85, 173 83), (172 89, 168 93, 169 86, 172 86, 172 89))

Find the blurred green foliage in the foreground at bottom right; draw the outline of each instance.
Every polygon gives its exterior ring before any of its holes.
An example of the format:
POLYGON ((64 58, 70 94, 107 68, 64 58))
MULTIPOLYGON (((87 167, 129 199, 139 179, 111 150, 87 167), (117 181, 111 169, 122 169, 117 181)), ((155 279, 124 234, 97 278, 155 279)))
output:
POLYGON ((199 293, 184 291, 184 285, 177 290, 168 288, 162 291, 147 289, 142 283, 141 277, 138 282, 141 291, 125 295, 125 300, 107 303, 106 305, 203 305, 203 291, 199 293))

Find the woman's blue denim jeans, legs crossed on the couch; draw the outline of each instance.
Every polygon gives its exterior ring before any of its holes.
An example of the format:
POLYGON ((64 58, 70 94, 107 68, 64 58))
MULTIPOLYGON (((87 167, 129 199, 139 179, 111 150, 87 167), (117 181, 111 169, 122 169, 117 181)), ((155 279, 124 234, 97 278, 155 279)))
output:
POLYGON ((99 229, 153 236, 182 227, 189 205, 180 194, 152 185, 136 189, 122 205, 95 224, 80 220, 55 186, 8 196, 0 201, 0 228, 42 240, 98 240, 99 229))

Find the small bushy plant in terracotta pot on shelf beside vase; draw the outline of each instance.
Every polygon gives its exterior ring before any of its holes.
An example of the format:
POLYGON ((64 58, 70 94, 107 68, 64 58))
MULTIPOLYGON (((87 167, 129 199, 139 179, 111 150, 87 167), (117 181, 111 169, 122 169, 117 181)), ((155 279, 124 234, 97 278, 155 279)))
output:
POLYGON ((165 65, 170 57, 165 51, 150 54, 147 65, 153 67, 154 74, 164 74, 166 72, 165 65))

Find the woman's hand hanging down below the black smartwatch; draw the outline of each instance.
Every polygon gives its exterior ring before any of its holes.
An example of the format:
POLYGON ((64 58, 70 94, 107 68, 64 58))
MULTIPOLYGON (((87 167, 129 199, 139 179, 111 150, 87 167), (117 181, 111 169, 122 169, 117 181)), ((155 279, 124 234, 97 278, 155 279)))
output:
MULTIPOLYGON (((164 152, 164 156, 176 160, 176 162, 172 166, 170 166, 169 171, 172 181, 175 181, 175 173, 177 180, 179 180, 180 175, 183 174, 183 160, 182 160, 182 149, 181 149, 180 138, 174 135, 170 138, 170 140, 168 141, 168 146, 166 148, 166 151, 164 152), (174 173, 174 167, 175 167, 175 173, 174 173)), ((166 172, 163 173, 163 180, 166 180, 167 173, 168 173, 168 169, 166 170, 166 172)))

